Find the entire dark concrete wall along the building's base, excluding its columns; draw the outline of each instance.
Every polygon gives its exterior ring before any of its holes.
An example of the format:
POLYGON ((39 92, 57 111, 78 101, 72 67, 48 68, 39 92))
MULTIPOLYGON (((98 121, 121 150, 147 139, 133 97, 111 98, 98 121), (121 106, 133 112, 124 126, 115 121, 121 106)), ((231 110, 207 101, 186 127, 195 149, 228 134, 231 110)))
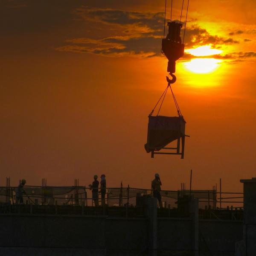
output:
MULTIPOLYGON (((0 215, 0 255, 149 255, 149 223, 148 218, 0 215)), ((227 252, 218 256, 234 255, 235 242, 242 239, 239 221, 201 220, 199 230, 209 250, 227 252)), ((192 251, 193 234, 191 218, 158 218, 158 255, 192 251)), ((200 236, 199 241, 207 251, 200 236)))

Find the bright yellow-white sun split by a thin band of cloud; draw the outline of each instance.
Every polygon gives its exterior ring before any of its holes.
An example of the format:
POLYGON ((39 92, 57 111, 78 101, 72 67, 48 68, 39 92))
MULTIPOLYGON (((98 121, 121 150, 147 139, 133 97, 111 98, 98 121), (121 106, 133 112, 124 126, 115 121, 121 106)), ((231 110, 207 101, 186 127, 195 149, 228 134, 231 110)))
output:
MULTIPOLYGON (((198 57, 217 55, 222 52, 222 50, 212 49, 211 45, 205 45, 195 49, 186 49, 185 51, 198 57)), ((220 63, 221 60, 215 58, 193 58, 191 61, 184 62, 184 66, 194 73, 209 73, 215 70, 220 63)))

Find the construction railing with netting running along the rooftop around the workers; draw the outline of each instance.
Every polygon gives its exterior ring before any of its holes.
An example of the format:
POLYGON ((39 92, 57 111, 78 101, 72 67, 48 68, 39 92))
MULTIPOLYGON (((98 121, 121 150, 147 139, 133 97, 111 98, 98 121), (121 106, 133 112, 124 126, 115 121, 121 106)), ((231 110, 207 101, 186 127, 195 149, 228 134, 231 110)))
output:
MULTIPOLYGON (((17 204, 18 187, 0 187, 0 204, 17 204)), ((177 208, 179 198, 193 196, 199 200, 201 209, 226 209, 243 207, 243 193, 217 192, 212 190, 162 190, 164 206, 177 208)), ((113 207, 135 207, 143 204, 143 198, 151 197, 151 189, 128 187, 106 188, 105 205, 113 207)), ((85 186, 24 186, 23 204, 37 205, 84 205, 94 206, 91 188, 85 186)), ((102 205, 99 188, 99 205, 102 205)))

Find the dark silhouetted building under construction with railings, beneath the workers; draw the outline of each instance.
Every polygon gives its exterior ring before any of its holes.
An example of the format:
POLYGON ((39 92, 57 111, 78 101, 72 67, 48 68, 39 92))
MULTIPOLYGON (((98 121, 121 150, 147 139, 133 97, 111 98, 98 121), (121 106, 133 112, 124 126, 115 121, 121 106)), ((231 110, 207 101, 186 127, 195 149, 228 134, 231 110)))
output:
MULTIPOLYGON (((255 189, 256 180, 247 184, 255 189)), ((192 190, 181 184, 161 191, 163 208, 151 189, 130 186, 107 188, 98 207, 78 180, 74 186, 47 186, 45 180, 24 186, 23 204, 16 203, 16 189, 9 179, 0 188, 0 255, 254 255, 237 254, 250 250, 243 242, 251 218, 246 189, 192 190)))

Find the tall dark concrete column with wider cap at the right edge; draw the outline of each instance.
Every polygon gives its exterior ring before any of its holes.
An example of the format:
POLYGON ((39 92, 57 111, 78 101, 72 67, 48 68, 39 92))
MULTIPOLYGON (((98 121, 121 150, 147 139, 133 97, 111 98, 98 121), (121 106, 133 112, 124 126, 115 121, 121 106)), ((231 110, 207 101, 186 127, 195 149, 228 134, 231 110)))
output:
POLYGON ((255 256, 256 253, 256 178, 244 183, 243 241, 236 244, 236 256, 255 256))

